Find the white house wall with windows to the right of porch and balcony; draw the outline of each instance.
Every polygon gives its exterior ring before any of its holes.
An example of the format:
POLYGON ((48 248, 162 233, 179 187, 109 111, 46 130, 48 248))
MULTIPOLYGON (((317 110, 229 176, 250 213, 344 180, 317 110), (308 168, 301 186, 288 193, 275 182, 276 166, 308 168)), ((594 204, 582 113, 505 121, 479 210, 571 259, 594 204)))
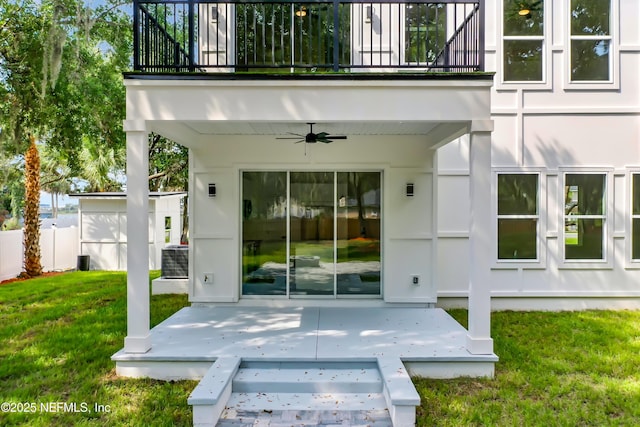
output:
MULTIPOLYGON (((486 1, 493 309, 640 305, 639 18, 629 0, 486 1)), ((468 263, 446 267, 468 245, 450 215, 466 144, 438 153, 443 305, 467 299, 468 263)))

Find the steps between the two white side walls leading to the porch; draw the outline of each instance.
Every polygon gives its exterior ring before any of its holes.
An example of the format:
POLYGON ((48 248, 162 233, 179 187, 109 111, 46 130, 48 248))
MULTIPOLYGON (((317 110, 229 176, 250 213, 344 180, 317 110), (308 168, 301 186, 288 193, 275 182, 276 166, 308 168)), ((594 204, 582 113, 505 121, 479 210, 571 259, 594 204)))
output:
POLYGON ((243 362, 217 427, 391 427, 376 362, 243 362))

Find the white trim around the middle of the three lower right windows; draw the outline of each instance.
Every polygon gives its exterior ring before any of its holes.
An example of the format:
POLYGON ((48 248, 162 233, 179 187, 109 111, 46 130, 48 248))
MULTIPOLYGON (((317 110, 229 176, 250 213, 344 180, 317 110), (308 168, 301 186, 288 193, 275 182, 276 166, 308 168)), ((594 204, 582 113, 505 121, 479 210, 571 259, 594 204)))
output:
POLYGON ((612 168, 559 168, 558 185, 558 268, 559 269, 612 269, 613 268, 613 222, 614 222, 614 194, 613 194, 613 169, 612 168), (603 215, 581 215, 581 218, 604 218, 602 253, 604 259, 571 259, 565 257, 565 230, 564 230, 564 187, 567 174, 604 175, 604 212, 603 215))

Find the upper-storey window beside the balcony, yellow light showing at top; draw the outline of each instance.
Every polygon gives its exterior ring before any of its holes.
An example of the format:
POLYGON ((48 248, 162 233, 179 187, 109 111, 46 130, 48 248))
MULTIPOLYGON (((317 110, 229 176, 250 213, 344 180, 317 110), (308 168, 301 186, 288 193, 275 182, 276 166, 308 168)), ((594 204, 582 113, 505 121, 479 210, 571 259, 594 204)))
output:
POLYGON ((543 80, 544 1, 504 0, 503 79, 543 80))

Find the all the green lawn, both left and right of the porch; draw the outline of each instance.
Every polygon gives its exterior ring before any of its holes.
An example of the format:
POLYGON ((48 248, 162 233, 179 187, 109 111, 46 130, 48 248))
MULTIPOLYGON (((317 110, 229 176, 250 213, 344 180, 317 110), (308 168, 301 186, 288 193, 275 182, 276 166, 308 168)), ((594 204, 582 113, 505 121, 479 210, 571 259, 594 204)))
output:
MULTIPOLYGON (((0 425, 191 424, 195 381, 116 377, 109 357, 126 333, 125 298, 123 273, 0 286, 0 398, 37 404, 35 413, 0 412, 0 425), (40 406, 57 402, 80 412, 40 406)), ((185 296, 152 296, 152 325, 186 304, 185 296)), ((466 324, 466 311, 451 313, 466 324)), ((492 322, 496 378, 416 378, 418 426, 638 425, 640 312, 499 312, 492 322)))

